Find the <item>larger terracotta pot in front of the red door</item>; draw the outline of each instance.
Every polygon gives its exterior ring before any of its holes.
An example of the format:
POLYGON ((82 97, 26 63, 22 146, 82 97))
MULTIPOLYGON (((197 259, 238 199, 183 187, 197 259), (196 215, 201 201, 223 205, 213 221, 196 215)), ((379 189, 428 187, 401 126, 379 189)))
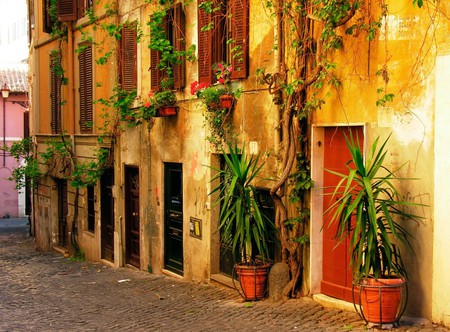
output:
POLYGON ((369 323, 390 324, 403 314, 406 281, 400 278, 364 279, 359 285, 364 318, 369 323))

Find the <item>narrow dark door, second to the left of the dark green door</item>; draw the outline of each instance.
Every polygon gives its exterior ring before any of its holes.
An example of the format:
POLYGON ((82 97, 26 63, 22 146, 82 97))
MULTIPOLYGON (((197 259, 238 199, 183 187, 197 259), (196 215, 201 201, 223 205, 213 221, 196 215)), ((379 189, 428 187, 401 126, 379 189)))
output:
POLYGON ((107 169, 100 179, 101 186, 101 255, 114 262, 114 169, 107 169))

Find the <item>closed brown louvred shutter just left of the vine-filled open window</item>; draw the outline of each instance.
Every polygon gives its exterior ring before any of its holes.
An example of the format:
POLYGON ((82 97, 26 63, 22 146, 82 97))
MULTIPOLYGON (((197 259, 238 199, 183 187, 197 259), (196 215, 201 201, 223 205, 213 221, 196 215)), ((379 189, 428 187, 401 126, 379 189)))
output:
POLYGON ((137 32, 134 25, 122 29, 120 48, 120 79, 122 89, 133 91, 137 88, 137 32))

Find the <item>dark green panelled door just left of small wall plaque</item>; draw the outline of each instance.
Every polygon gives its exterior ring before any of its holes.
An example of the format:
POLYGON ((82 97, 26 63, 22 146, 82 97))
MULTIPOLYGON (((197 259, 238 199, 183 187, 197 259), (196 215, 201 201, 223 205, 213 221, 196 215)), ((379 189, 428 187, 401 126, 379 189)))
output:
POLYGON ((181 164, 165 164, 164 238, 164 267, 183 275, 183 171, 181 164))

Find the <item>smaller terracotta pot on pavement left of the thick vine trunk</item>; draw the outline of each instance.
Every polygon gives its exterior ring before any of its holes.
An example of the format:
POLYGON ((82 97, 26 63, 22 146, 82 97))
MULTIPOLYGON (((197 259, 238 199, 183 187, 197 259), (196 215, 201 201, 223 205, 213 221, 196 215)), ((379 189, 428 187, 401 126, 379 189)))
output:
POLYGON ((267 275, 270 265, 261 266, 235 265, 236 274, 244 293, 245 300, 257 301, 266 295, 267 275))

